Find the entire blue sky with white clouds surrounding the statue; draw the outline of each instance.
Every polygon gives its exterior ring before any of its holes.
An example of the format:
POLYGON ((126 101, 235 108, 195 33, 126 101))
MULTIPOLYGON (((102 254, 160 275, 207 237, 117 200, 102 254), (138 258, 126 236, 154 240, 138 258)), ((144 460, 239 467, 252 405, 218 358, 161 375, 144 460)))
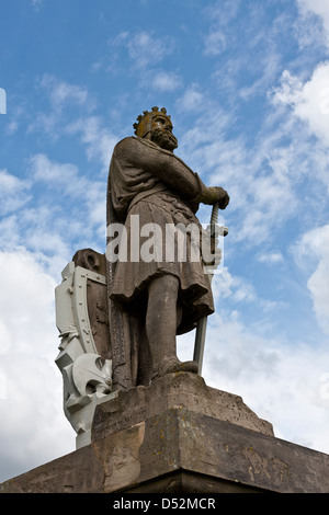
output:
POLYGON ((206 382, 329 453, 328 1, 2 3, 0 480, 75 449, 54 288, 78 249, 104 252, 113 147, 154 105, 231 198, 206 382))

